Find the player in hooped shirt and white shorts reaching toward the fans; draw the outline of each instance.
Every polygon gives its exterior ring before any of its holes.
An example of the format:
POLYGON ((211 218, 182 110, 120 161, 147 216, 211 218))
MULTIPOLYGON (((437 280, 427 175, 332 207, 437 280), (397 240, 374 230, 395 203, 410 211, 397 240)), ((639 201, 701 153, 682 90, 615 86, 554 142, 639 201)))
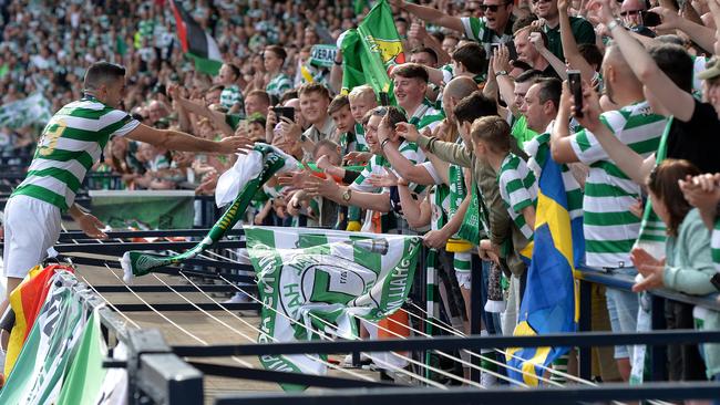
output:
MULTIPOLYGON (((74 200, 85 174, 111 137, 217 154, 234 154, 250 146, 247 139, 237 137, 210 142, 177 131, 155 129, 117 110, 125 93, 125 68, 121 65, 93 63, 83 85, 83 98, 63 106, 45 125, 28 176, 6 206, 3 276, 8 278, 8 291, 47 258, 60 235, 61 212, 70 214, 91 238, 105 237, 104 225, 74 200)), ((0 307, 0 313, 4 312, 7 300, 0 307)))

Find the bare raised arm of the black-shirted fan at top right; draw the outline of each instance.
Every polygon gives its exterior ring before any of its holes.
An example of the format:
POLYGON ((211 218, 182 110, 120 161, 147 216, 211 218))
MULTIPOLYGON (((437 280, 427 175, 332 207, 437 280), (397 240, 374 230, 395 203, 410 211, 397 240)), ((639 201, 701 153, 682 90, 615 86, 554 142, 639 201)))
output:
POLYGON ((648 51, 615 21, 610 1, 594 0, 590 3, 590 8, 599 11, 600 19, 610 29, 613 39, 620 49, 620 52, 623 52, 628 65, 640 82, 652 91, 652 94, 668 112, 668 115, 675 115, 676 118, 682 122, 690 121, 695 111, 692 95, 678 87, 658 68, 648 51))

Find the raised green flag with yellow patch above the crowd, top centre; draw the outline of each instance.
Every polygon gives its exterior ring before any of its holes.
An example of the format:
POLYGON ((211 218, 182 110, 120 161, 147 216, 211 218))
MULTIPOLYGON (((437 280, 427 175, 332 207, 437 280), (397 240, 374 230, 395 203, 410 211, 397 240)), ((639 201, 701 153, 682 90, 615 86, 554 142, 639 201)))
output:
POLYGON ((358 29, 344 32, 340 48, 344 93, 362 84, 372 86, 376 94, 391 93, 388 71, 404 63, 405 54, 387 0, 378 1, 358 29))

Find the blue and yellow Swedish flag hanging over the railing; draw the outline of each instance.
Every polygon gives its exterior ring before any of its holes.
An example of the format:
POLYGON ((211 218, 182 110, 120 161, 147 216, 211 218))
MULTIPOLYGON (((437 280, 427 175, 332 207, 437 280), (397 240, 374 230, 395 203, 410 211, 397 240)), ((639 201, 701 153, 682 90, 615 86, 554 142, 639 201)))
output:
MULTIPOLYGON (((544 145, 546 146, 546 145, 544 145)), ((579 309, 573 278, 576 260, 584 255, 583 218, 570 217, 566 181, 572 175, 549 156, 539 163, 539 189, 534 248, 527 284, 514 335, 573 332, 579 309), (564 180, 565 177, 565 180, 564 180)), ((511 377, 535 386, 547 366, 568 347, 513 347, 507 364, 524 373, 508 371, 511 377)))

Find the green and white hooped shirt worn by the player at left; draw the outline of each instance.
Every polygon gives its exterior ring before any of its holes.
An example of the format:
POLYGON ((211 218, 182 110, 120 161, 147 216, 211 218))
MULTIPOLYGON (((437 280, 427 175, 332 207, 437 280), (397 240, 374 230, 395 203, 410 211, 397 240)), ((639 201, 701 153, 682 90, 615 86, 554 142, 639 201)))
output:
POLYGON ((63 106, 42 131, 28 175, 12 196, 33 197, 66 210, 110 137, 124 136, 137 125, 127 113, 92 96, 63 106))

